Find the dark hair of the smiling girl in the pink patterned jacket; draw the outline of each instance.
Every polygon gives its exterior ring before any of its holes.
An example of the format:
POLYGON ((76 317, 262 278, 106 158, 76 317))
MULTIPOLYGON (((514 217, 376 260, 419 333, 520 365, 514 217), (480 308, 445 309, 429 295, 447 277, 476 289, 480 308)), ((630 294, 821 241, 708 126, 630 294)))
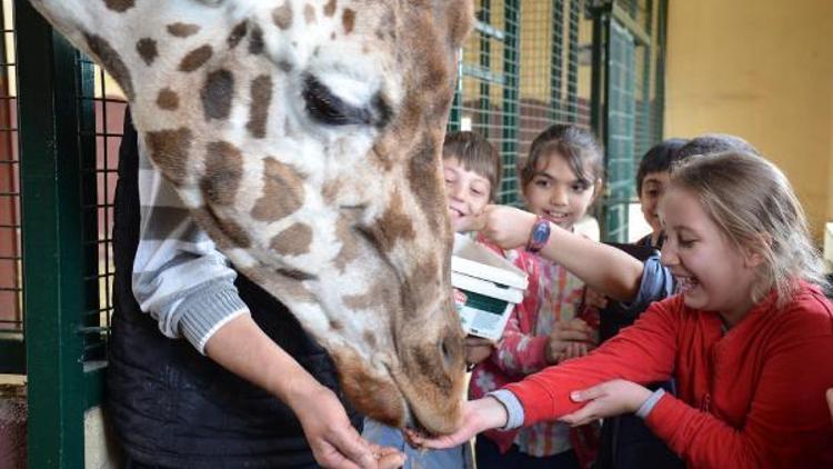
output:
POLYGON ((548 127, 532 141, 530 156, 519 168, 522 188, 532 181, 542 159, 553 153, 566 159, 582 183, 590 186, 604 176, 602 146, 595 137, 579 127, 556 123, 548 127))

